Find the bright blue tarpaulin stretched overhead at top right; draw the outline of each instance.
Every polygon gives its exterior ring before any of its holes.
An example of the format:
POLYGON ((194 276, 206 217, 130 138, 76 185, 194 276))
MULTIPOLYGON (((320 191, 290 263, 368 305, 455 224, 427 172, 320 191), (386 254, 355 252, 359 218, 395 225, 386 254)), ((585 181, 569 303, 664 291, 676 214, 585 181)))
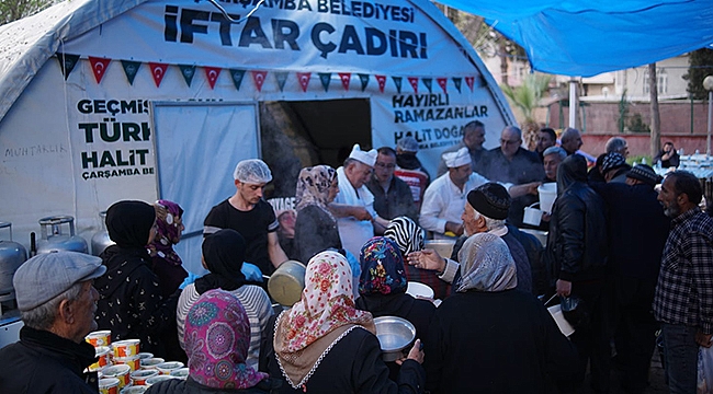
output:
POLYGON ((713 44, 713 0, 439 0, 485 18, 532 68, 591 77, 713 44))

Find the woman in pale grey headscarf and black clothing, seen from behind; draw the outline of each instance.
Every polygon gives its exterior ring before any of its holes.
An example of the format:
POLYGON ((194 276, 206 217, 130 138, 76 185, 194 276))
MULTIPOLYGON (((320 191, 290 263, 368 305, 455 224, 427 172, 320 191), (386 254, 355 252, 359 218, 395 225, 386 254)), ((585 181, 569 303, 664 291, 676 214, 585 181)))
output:
POLYGON ((544 305, 517 290, 499 236, 471 236, 459 254, 456 293, 435 311, 425 341, 432 393, 546 393, 547 376, 573 373, 577 352, 544 305))

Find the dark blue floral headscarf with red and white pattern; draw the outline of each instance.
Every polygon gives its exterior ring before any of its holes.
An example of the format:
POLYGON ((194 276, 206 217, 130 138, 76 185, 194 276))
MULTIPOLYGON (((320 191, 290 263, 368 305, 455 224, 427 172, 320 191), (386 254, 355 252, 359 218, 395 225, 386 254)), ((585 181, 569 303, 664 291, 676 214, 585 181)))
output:
POLYGON ((359 293, 393 294, 406 292, 404 258, 396 242, 374 236, 362 247, 359 255, 362 273, 359 277, 359 293))

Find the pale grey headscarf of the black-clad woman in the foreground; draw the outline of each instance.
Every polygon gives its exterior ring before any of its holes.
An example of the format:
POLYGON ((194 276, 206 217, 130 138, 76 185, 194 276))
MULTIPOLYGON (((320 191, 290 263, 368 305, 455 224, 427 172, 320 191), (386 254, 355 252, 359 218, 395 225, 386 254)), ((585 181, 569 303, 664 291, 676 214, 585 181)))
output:
POLYGON ((459 252, 463 275, 455 291, 502 291, 518 285, 514 260, 508 244, 498 235, 477 233, 465 241, 459 252))

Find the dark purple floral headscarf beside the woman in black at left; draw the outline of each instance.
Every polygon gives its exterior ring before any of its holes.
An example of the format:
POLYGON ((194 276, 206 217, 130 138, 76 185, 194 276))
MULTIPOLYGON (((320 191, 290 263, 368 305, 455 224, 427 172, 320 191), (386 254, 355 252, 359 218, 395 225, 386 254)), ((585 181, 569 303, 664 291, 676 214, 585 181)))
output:
POLYGON ((181 217, 183 208, 168 200, 158 200, 154 204, 156 209, 156 224, 158 231, 156 239, 148 245, 151 257, 162 257, 173 266, 182 265, 181 257, 173 251, 173 245, 181 240, 181 217))

